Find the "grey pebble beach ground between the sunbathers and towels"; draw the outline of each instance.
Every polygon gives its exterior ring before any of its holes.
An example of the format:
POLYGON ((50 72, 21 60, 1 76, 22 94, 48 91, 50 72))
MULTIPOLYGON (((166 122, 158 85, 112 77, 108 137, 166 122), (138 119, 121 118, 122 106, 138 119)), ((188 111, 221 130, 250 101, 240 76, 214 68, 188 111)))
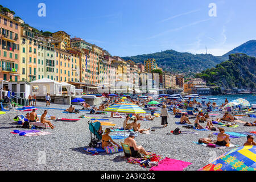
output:
MULTIPOLYGON (((46 110, 44 102, 38 102, 36 107, 42 107, 36 110, 36 113, 43 114, 46 110)), ((90 119, 79 118, 80 115, 88 115, 90 117, 104 118, 108 114, 93 115, 88 114, 89 111, 80 111, 79 114, 65 114, 64 109, 69 105, 51 104, 47 108, 49 115, 55 115, 56 118, 71 118, 80 119, 77 122, 62 122, 51 121, 55 129, 47 128, 42 131, 47 131, 51 134, 40 135, 36 137, 24 137, 10 133, 13 130, 19 129, 16 126, 13 118, 18 114, 25 115, 27 112, 14 110, 4 116, 0 116, 0 170, 1 171, 148 171, 149 168, 143 168, 137 164, 129 164, 123 158, 123 152, 115 154, 100 153, 98 155, 88 154, 84 150, 90 142, 90 131, 88 121, 90 119), (53 109, 55 108, 55 109, 53 109), (61 110, 60 110, 61 109, 61 110), (40 163, 40 156, 46 155, 46 162, 40 163)), ((81 106, 75 106, 76 109, 81 109, 81 106)), ((221 118, 222 113, 214 113, 210 118, 221 118)), ((142 114, 144 115, 144 114, 142 114)), ((115 123, 116 127, 123 127, 124 118, 106 118, 109 122, 115 123)), ((245 122, 254 122, 255 118, 239 117, 245 122)), ((207 164, 210 160, 232 150, 232 148, 210 148, 195 144, 199 138, 207 138, 210 133, 218 131, 197 131, 194 129, 185 129, 182 125, 176 125, 175 122, 180 121, 180 118, 174 118, 174 114, 169 113, 168 126, 160 125, 161 118, 156 117, 154 121, 138 121, 141 123, 142 129, 151 128, 150 134, 138 134, 135 138, 137 145, 142 145, 147 151, 154 152, 156 155, 161 155, 163 158, 171 158, 183 160, 192 163, 184 169, 184 171, 196 171, 207 164), (168 134, 171 130, 179 127, 181 131, 193 131, 198 134, 168 134)), ((195 118, 190 119, 194 123, 195 118)), ((207 123, 200 123, 206 126, 207 123)), ((243 123, 237 123, 236 128, 224 127, 225 131, 255 131, 255 127, 243 126, 243 123)), ((220 125, 215 125, 219 127, 220 125)), ((107 127, 102 126, 105 131, 107 127)), ((112 135, 114 133, 110 133, 112 135)), ((213 135, 217 138, 216 135, 213 135)), ((119 143, 123 140, 115 140, 119 143)), ((243 146, 246 142, 246 137, 231 138, 230 143, 238 146, 243 146)))

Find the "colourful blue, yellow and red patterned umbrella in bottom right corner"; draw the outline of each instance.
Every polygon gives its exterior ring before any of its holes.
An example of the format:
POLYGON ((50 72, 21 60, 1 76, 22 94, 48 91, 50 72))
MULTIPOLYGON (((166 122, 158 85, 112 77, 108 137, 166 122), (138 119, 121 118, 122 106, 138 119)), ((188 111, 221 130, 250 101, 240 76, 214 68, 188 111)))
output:
POLYGON ((256 146, 234 148, 199 171, 256 171, 256 146))

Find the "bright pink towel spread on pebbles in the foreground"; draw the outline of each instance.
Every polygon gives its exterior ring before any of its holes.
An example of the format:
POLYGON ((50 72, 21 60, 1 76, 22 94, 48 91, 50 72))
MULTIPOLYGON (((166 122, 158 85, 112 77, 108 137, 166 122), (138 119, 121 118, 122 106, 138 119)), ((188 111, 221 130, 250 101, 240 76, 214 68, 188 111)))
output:
POLYGON ((182 160, 165 158, 158 163, 158 166, 152 167, 150 171, 183 171, 191 164, 182 160))

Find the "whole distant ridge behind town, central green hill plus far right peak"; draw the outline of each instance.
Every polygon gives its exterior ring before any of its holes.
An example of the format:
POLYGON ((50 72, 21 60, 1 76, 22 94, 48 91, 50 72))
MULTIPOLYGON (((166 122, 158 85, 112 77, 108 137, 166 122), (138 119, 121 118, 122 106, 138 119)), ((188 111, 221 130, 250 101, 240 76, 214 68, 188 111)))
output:
POLYGON ((210 54, 194 55, 188 52, 167 50, 122 58, 124 60, 133 60, 135 63, 144 63, 144 60, 154 58, 158 66, 166 71, 185 73, 186 76, 191 76, 195 75, 195 73, 202 72, 205 69, 213 68, 222 61, 228 60, 229 55, 232 53, 245 53, 246 55, 256 57, 256 40, 250 40, 223 56, 213 56, 210 54))

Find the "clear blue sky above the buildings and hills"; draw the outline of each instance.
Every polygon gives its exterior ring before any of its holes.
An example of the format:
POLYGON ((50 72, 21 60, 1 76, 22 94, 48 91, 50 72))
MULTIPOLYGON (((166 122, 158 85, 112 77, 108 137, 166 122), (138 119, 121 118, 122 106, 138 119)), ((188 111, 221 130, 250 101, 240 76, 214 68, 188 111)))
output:
POLYGON ((26 0, 2 1, 30 26, 63 30, 112 55, 135 56, 174 49, 219 56, 255 38, 256 1, 232 0, 26 0), (38 4, 46 4, 46 17, 38 4), (209 16, 210 3, 217 16, 209 16))

